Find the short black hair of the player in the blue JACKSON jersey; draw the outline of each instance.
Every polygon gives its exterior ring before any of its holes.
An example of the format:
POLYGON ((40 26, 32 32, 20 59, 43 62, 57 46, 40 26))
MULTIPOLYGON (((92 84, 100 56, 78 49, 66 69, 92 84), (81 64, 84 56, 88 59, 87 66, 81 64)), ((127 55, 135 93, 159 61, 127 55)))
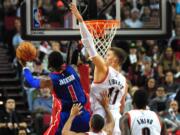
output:
POLYGON ((48 57, 48 68, 53 70, 60 70, 61 65, 64 64, 63 57, 60 52, 53 51, 48 57))

